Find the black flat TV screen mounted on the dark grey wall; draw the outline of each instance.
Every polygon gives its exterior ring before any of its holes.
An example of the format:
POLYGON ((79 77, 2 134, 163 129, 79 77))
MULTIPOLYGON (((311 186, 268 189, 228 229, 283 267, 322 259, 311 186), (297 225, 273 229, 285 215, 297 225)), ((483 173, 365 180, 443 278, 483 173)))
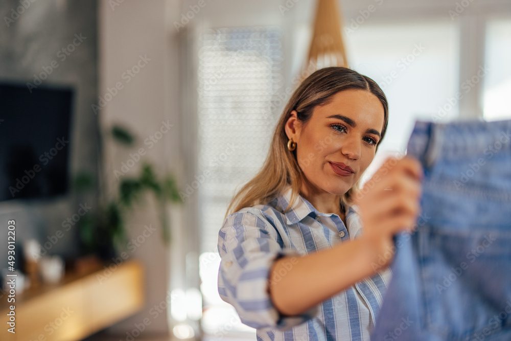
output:
POLYGON ((69 87, 0 82, 0 201, 67 192, 73 97, 69 87))

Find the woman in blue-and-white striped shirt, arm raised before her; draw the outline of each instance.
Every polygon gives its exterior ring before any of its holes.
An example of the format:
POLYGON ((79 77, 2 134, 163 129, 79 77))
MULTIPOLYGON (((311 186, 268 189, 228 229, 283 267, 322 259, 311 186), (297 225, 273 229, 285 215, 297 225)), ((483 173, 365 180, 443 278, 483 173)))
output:
POLYGON ((421 192, 409 157, 357 190, 387 122, 380 87, 344 67, 316 71, 289 100, 218 239, 218 291, 258 340, 369 339, 392 237, 413 229, 421 192))

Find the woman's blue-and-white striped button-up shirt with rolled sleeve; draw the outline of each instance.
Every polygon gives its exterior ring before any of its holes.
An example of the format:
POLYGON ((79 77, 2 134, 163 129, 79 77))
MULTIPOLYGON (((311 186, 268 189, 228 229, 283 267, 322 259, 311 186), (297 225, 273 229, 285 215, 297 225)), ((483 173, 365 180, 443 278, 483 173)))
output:
POLYGON ((348 207, 345 226, 337 214, 318 212, 301 195, 282 213, 290 197, 289 186, 268 205, 225 218, 218 237, 220 297, 235 307, 244 324, 257 329, 258 341, 369 340, 390 281, 388 267, 297 316, 283 315, 273 305, 268 278, 276 259, 353 240, 362 227, 356 206, 348 207))

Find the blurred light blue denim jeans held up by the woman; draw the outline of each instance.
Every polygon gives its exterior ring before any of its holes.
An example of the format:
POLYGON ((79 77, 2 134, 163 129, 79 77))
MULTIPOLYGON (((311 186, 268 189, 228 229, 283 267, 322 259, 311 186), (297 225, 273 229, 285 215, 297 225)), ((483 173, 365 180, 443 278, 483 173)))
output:
POLYGON ((511 340, 511 120, 416 122, 421 215, 371 340, 511 340))

